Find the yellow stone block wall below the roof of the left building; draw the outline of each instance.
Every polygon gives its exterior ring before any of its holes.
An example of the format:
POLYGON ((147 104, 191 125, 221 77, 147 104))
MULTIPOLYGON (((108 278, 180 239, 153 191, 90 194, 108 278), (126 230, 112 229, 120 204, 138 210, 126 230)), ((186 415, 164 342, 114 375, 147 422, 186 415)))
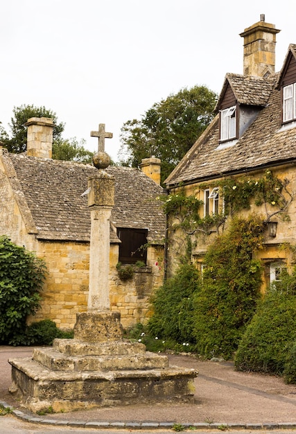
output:
MULTIPOLYGON (((40 242, 37 255, 46 262, 49 275, 42 293, 41 309, 29 322, 49 318, 61 329, 72 329, 76 313, 87 310, 89 244, 40 242)), ((150 295, 162 284, 163 277, 162 266, 159 267, 156 258, 159 258, 159 250, 149 248, 148 262, 153 265, 137 270, 132 279, 123 282, 116 270, 118 245, 111 245, 110 304, 112 311, 121 313, 124 328, 144 322, 150 314, 150 295)))

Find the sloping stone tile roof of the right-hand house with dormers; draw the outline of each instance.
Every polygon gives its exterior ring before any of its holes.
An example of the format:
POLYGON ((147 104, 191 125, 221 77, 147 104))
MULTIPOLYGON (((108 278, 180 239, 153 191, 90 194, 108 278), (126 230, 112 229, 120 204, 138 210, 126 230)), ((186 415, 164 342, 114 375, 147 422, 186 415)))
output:
MULTIPOLYGON (((296 48, 296 47, 295 47, 296 48)), ((236 88, 241 76, 232 74, 232 85, 236 88), (234 85, 234 82, 236 83, 234 85)), ((296 125, 295 128, 281 128, 281 92, 276 89, 279 73, 270 76, 268 85, 262 80, 243 80, 242 91, 236 89, 241 103, 252 101, 259 104, 265 101, 265 107, 235 144, 228 148, 218 148, 218 115, 207 130, 195 142, 192 148, 166 179, 168 187, 180 184, 215 179, 223 175, 243 173, 264 166, 276 166, 296 160, 296 125), (251 96, 244 98, 245 86, 250 82, 251 96), (255 98, 256 85, 261 83, 261 96, 255 98), (267 98, 268 86, 270 87, 267 98)))

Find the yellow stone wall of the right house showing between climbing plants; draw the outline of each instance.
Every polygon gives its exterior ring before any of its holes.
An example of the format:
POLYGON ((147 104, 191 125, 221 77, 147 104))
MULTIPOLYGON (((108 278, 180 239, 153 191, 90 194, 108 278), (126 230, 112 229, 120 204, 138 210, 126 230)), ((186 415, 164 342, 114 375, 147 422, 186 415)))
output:
MULTIPOLYGON (((281 166, 278 168, 270 169, 272 173, 279 177, 281 180, 289 180, 289 184, 287 189, 290 191, 291 196, 293 197, 290 206, 288 207, 288 218, 284 218, 281 214, 275 214, 272 216, 271 220, 277 222, 277 234, 276 236, 269 236, 268 229, 265 232, 264 245, 262 249, 256 252, 256 257, 260 259, 263 264, 263 268, 265 271, 263 272, 262 279, 263 284, 261 290, 264 292, 265 289, 269 286, 270 280, 268 275, 268 268, 270 263, 276 261, 282 261, 286 263, 288 268, 291 268, 295 265, 296 257, 293 256, 293 253, 283 248, 284 245, 289 243, 290 245, 296 246, 296 170, 295 166, 281 166)), ((259 177, 263 176, 265 172, 252 172, 247 173, 244 176, 254 177, 254 179, 259 179, 259 177)), ((239 175, 238 175, 239 178, 239 175)), ((218 180, 216 180, 216 183, 218 180)), ((215 180, 212 180, 209 183, 209 188, 213 189, 217 184, 215 184, 215 180)), ((205 184, 194 184, 191 186, 185 186, 184 189, 186 194, 189 196, 194 194, 198 199, 203 200, 203 189, 205 189, 205 184)), ((178 189, 171 192, 177 194, 178 189)), ((287 196, 287 195, 286 195, 287 196)), ((288 196, 287 196, 288 198, 288 196)), ((222 207, 222 203, 219 203, 219 207, 222 207)), ((211 209, 210 209, 211 211, 211 209)), ((222 208, 220 209, 220 212, 222 208)), ((267 218, 267 212, 269 215, 274 213, 275 207, 272 205, 261 205, 261 207, 256 206, 254 202, 251 202, 250 209, 241 211, 239 213, 242 217, 247 217, 248 214, 259 214, 263 218, 267 218)), ((203 216, 203 207, 200 207, 200 217, 203 216)), ((168 229, 168 277, 173 275, 177 268, 178 259, 180 255, 185 253, 186 250, 186 238, 184 236, 184 232, 180 229, 177 231, 172 229, 173 220, 170 219, 170 227, 168 229)), ((220 234, 224 230, 227 230, 227 226, 229 225, 229 218, 227 219, 225 227, 220 227, 220 234)), ((215 229, 215 228, 213 228, 215 229)), ((217 236, 217 232, 211 234, 204 234, 202 232, 195 232, 191 236, 191 241, 193 245, 192 251, 192 259, 195 263, 197 263, 198 268, 201 268, 201 264, 203 261, 203 257, 209 244, 214 243, 215 238, 217 236)))

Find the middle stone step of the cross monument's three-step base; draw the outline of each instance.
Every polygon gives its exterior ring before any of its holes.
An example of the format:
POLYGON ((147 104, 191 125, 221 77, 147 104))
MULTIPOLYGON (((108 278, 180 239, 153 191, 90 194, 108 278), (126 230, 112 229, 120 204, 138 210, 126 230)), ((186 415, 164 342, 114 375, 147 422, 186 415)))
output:
POLYGON ((146 352, 121 356, 67 356, 51 348, 36 348, 33 360, 53 371, 154 370, 168 367, 168 357, 146 352))

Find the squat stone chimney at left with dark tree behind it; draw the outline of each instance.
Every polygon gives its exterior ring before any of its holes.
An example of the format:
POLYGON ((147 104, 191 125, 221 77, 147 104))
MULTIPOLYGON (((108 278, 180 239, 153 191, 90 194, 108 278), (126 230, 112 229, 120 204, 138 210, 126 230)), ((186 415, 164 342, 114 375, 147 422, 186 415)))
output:
POLYGON ((30 118, 25 123, 27 132, 27 155, 51 158, 53 153, 53 119, 30 118))

